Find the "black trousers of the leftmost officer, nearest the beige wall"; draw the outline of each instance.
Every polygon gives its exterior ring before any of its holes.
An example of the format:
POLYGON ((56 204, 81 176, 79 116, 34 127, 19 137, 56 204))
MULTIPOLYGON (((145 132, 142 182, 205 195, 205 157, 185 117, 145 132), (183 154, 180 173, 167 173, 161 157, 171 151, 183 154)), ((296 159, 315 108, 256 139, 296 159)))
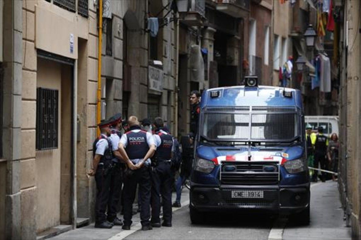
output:
POLYGON ((109 201, 109 186, 111 182, 110 171, 104 165, 98 165, 95 172, 96 201, 95 201, 95 222, 102 223, 106 220, 106 206, 109 201), (108 172, 108 173, 107 173, 108 172))

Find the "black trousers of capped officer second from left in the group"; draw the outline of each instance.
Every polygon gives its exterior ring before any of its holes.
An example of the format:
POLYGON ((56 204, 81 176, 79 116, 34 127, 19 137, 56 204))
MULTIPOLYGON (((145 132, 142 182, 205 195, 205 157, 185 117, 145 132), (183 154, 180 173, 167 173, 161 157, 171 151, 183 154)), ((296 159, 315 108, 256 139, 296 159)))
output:
POLYGON ((110 186, 108 200, 108 217, 109 222, 113 222, 119 211, 119 199, 122 191, 123 174, 120 163, 115 163, 110 171, 110 186))

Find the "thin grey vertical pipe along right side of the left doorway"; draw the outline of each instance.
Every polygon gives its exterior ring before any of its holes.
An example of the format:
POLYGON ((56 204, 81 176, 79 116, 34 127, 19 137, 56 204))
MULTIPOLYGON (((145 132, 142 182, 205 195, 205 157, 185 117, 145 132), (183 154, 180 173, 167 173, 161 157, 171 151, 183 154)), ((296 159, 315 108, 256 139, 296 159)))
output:
POLYGON ((71 146, 72 154, 72 175, 73 175, 73 228, 77 228, 77 116, 78 116, 78 59, 74 61, 74 71, 73 71, 73 142, 71 146))

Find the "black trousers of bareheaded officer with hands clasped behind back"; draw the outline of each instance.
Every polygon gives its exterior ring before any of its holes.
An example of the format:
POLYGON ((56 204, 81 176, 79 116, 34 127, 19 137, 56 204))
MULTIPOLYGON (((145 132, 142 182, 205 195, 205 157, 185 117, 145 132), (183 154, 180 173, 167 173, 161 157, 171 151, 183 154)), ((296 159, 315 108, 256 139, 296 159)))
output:
POLYGON ((142 226, 149 226, 149 218, 151 217, 151 176, 150 168, 145 165, 132 171, 131 175, 124 175, 124 225, 130 226, 132 224, 131 219, 137 183, 139 183, 140 202, 142 204, 140 223, 142 223, 142 226))

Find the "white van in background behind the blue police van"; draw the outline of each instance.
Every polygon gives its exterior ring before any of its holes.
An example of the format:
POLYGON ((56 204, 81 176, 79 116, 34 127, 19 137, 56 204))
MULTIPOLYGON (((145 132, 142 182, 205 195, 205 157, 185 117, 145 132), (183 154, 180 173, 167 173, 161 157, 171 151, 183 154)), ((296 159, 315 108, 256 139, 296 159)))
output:
POLYGON ((323 133, 331 136, 332 133, 338 132, 338 116, 305 116, 305 125, 310 124, 312 130, 317 132, 318 126, 323 127, 323 133))

